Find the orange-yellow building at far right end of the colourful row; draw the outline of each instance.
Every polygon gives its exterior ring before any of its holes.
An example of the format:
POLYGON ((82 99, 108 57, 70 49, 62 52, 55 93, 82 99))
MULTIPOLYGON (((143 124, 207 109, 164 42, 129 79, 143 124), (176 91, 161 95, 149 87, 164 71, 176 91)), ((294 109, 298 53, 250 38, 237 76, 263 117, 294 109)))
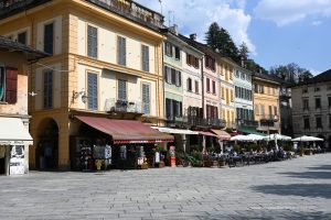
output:
POLYGON ((254 74, 254 117, 257 131, 280 133, 279 84, 268 75, 254 74))

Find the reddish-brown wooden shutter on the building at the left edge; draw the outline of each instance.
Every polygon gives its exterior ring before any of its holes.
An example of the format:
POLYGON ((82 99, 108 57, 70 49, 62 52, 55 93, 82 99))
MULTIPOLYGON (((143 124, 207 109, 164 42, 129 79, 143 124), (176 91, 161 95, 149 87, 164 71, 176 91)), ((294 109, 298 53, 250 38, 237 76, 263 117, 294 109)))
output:
POLYGON ((6 68, 6 101, 15 103, 18 101, 18 69, 6 68))

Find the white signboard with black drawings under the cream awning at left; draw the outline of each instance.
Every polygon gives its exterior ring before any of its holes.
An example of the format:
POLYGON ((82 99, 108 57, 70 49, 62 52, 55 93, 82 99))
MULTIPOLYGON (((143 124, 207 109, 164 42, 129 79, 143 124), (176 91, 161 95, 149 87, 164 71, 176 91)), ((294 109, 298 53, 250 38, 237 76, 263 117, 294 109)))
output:
POLYGON ((24 174, 24 146, 13 145, 10 151, 9 174, 24 174))

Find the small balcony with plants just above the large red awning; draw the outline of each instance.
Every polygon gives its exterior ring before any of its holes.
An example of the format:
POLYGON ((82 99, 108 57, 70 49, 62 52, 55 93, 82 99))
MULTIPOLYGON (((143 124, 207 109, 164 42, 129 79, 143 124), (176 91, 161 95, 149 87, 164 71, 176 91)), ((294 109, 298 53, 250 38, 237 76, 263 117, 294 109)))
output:
POLYGON ((105 111, 143 113, 140 101, 122 99, 106 99, 105 111))

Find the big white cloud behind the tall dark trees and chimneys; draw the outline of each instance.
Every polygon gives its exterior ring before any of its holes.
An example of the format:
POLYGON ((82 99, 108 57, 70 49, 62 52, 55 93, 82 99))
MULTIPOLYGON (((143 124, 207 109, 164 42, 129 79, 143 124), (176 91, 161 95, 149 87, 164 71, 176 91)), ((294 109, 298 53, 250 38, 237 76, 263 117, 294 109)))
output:
MULTIPOLYGON (((160 12, 161 7, 158 0, 137 1, 160 12)), ((170 14, 171 25, 174 20, 182 34, 196 33, 197 38, 203 41, 210 24, 217 22, 220 26, 228 31, 237 45, 246 42, 252 54, 256 55, 255 45, 247 34, 252 18, 245 13, 245 0, 209 0, 207 2, 205 0, 162 0, 167 25, 169 24, 168 14, 170 14)))

